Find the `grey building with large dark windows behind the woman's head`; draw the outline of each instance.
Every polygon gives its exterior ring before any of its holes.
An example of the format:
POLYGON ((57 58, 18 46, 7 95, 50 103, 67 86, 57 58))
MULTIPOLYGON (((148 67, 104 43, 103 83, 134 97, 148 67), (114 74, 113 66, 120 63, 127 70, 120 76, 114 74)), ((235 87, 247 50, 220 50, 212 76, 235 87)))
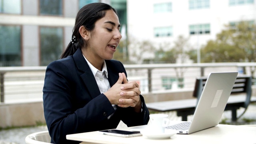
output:
POLYGON ((0 66, 47 66, 59 59, 78 10, 92 2, 113 4, 126 16, 124 0, 0 0, 0 66))

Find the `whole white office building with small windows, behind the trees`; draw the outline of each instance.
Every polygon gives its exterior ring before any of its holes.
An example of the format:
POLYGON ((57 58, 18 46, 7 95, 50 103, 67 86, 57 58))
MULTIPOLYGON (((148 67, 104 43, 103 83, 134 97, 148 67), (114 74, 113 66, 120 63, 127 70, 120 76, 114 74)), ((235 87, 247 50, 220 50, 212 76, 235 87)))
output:
MULTIPOLYGON (((225 25, 256 22, 255 0, 127 0, 128 36, 148 41, 156 48, 179 36, 189 38, 189 46, 200 49, 214 40, 225 25)), ((131 45, 128 50, 137 49, 131 45)), ((132 52, 130 52, 132 53, 132 52)), ((148 55, 150 56, 150 55, 148 55)))

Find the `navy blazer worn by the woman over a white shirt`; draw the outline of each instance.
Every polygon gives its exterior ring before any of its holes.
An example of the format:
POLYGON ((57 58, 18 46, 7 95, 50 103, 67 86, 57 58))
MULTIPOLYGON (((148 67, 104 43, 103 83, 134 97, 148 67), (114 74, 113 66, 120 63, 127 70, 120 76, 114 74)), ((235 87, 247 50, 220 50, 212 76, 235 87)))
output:
MULTIPOLYGON (((105 60, 108 80, 113 86, 118 73, 126 70, 116 60, 105 60)), ((127 76, 127 74, 126 74, 127 76)), ((96 80, 81 49, 73 56, 51 62, 46 68, 43 88, 44 116, 52 138, 52 143, 71 144, 67 134, 90 132, 116 128, 122 120, 127 126, 148 124, 149 112, 142 101, 142 112, 136 113, 132 107, 116 111, 108 98, 100 93, 96 80), (113 112, 114 115, 108 119, 113 112)))

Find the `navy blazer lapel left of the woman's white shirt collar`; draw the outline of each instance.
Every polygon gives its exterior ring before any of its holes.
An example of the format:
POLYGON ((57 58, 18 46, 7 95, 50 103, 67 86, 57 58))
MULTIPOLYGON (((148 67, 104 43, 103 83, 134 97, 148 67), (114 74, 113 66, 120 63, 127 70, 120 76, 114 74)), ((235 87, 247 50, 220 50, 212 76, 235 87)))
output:
POLYGON ((92 71, 87 64, 86 60, 84 59, 84 56, 82 54, 82 51, 80 48, 76 50, 76 52, 73 55, 74 62, 76 63, 76 67, 78 70, 81 71, 81 78, 86 85, 86 88, 88 92, 90 93, 91 98, 95 98, 98 95, 100 95, 100 89, 98 88, 98 84, 92 74, 92 71))

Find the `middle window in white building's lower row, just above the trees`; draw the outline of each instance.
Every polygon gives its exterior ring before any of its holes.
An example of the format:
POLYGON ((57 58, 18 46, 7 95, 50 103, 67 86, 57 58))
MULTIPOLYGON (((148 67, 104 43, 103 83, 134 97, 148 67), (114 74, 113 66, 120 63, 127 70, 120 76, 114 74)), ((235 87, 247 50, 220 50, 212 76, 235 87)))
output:
POLYGON ((210 24, 190 25, 189 32, 193 34, 210 34, 210 24))

